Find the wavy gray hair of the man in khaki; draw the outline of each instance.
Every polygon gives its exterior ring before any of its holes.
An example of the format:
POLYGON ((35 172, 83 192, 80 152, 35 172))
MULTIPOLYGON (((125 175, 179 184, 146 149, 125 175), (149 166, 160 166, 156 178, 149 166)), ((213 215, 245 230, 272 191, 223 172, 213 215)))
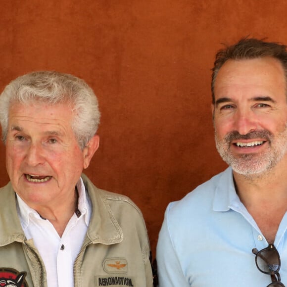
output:
POLYGON ((72 129, 82 149, 96 134, 100 112, 96 95, 87 83, 69 74, 40 71, 16 78, 0 95, 0 123, 4 143, 8 132, 10 104, 29 104, 38 100, 49 105, 71 105, 75 114, 72 129))

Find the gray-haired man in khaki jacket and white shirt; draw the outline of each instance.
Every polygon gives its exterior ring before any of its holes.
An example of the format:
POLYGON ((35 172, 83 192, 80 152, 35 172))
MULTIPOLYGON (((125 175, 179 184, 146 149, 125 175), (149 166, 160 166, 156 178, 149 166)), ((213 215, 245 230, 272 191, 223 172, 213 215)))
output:
POLYGON ((139 208, 82 174, 98 148, 96 96, 34 72, 0 95, 10 182, 0 190, 0 286, 151 287, 139 208))

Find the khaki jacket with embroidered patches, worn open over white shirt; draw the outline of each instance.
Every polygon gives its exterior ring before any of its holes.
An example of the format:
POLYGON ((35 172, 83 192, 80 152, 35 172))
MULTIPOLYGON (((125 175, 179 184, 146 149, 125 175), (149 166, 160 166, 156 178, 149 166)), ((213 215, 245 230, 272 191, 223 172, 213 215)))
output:
MULTIPOLYGON (((141 211, 128 197, 99 190, 85 175, 82 178, 93 213, 74 263, 75 287, 152 287, 141 211)), ((15 198, 10 183, 0 189, 0 284, 47 287, 45 266, 33 239, 25 238, 15 198)))

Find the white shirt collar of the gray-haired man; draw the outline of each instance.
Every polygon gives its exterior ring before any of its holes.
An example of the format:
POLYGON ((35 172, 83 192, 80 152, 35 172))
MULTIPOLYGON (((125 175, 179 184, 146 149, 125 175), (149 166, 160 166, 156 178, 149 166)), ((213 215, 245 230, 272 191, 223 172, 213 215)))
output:
MULTIPOLYGON (((78 190, 78 208, 77 210, 80 211, 80 214, 76 210, 76 216, 85 216, 85 223, 89 226, 90 218, 91 218, 91 210, 92 210, 92 203, 89 196, 87 196, 87 192, 83 183, 82 178, 76 184, 76 188, 78 190)), ((36 219, 42 219, 40 214, 29 205, 27 205, 22 198, 16 193, 16 207, 17 213, 22 225, 23 230, 25 230, 29 225, 29 219, 31 216, 34 216, 36 219)), ((44 219, 45 220, 45 219, 44 219)))

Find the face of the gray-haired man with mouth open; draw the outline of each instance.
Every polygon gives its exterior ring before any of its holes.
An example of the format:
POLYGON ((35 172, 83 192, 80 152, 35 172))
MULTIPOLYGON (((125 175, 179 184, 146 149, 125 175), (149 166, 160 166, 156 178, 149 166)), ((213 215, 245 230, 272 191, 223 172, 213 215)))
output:
POLYGON ((66 104, 10 107, 7 172, 14 190, 32 208, 74 200, 75 185, 94 152, 77 144, 73 116, 66 104))

